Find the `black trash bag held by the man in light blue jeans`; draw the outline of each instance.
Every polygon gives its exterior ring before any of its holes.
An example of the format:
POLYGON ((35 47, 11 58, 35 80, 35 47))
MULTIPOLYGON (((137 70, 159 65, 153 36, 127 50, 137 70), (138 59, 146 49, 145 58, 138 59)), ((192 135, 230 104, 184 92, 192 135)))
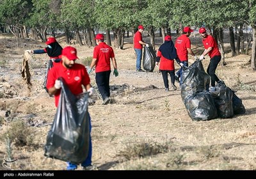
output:
POLYGON ((156 52, 154 52, 153 47, 146 47, 143 54, 143 68, 147 72, 153 72, 156 66, 156 52))

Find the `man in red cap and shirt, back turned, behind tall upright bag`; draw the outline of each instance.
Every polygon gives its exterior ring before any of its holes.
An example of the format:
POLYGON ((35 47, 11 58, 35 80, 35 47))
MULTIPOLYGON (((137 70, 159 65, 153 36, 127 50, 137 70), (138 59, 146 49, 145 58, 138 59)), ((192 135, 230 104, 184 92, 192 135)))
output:
MULTIPOLYGON (((197 56, 191 50, 191 42, 190 39, 188 38, 192 32, 193 30, 190 29, 190 27, 184 27, 183 34, 180 35, 175 42, 175 48, 177 49, 178 58, 180 59, 181 63, 183 63, 184 66, 188 66, 188 54, 191 54, 191 56, 197 59, 197 56)), ((179 71, 175 74, 175 80, 177 82, 180 82, 180 84, 182 81, 182 79, 179 80, 181 75, 182 68, 180 68, 179 71)))

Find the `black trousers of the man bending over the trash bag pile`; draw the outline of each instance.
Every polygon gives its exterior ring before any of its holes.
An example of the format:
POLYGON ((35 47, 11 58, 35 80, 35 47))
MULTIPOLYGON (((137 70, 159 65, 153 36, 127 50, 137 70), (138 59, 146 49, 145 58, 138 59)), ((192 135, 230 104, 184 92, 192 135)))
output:
POLYGON ((207 68, 207 74, 211 76, 211 86, 215 86, 215 82, 220 81, 220 79, 215 74, 216 68, 220 63, 221 56, 214 56, 211 58, 209 66, 207 68))

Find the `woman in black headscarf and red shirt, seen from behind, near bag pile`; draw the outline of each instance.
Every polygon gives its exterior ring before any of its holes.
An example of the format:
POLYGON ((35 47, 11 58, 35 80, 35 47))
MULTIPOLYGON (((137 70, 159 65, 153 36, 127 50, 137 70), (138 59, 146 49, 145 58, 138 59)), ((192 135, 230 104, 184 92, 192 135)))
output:
POLYGON ((170 35, 166 35, 164 37, 164 43, 159 47, 157 51, 156 65, 159 65, 159 70, 161 70, 164 80, 165 91, 169 91, 169 82, 168 82, 168 74, 171 76, 172 89, 176 90, 175 86, 175 74, 174 74, 174 60, 176 59, 177 63, 180 65, 179 58, 177 57, 177 51, 172 42, 172 37, 170 35))

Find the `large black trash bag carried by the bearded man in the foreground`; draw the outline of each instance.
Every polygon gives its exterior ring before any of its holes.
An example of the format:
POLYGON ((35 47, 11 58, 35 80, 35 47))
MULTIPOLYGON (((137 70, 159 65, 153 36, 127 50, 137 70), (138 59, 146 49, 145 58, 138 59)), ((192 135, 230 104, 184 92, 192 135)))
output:
POLYGON ((45 156, 81 164, 88 156, 90 117, 88 93, 73 95, 61 80, 57 112, 45 144, 45 156))

